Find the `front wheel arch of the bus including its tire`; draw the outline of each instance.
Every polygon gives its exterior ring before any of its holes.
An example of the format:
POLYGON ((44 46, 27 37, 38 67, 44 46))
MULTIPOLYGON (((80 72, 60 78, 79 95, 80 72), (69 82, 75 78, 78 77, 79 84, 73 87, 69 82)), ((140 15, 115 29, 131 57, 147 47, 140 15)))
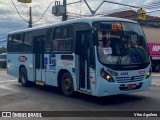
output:
POLYGON ((58 73, 58 87, 65 96, 73 96, 74 85, 72 75, 68 70, 60 70, 58 73))

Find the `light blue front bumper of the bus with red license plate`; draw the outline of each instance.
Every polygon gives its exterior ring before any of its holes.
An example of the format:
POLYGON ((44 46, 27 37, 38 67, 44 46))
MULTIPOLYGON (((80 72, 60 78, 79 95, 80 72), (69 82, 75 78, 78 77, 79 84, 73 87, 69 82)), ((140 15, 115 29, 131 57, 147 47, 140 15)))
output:
POLYGON ((117 83, 108 82, 107 80, 98 77, 96 84, 95 96, 110 96, 117 94, 126 94, 131 92, 146 91, 151 87, 151 77, 138 82, 117 83))

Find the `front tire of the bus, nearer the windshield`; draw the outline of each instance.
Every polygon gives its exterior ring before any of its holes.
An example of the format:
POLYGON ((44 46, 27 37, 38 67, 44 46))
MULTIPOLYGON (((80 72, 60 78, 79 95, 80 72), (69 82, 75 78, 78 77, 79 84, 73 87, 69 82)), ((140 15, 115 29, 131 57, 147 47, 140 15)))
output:
POLYGON ((65 96, 71 97, 74 93, 73 79, 69 72, 65 72, 61 78, 61 89, 65 96))

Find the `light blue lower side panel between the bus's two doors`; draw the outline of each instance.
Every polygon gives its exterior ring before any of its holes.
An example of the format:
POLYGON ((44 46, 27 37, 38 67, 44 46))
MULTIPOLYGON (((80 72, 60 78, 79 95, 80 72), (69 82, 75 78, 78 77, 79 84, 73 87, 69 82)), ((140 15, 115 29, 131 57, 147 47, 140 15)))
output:
POLYGON ((63 55, 61 54, 45 55, 44 62, 46 69, 46 84, 51 86, 58 86, 58 73, 60 70, 67 70, 72 76, 74 89, 77 90, 74 55, 72 54, 73 60, 62 60, 62 56, 63 55))

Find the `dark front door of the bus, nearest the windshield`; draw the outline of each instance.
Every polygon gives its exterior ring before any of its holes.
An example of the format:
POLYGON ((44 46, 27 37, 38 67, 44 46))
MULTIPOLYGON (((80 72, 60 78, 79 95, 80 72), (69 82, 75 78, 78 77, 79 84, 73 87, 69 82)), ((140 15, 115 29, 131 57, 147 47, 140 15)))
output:
POLYGON ((89 78, 89 36, 90 31, 80 31, 76 34, 77 79, 79 90, 90 91, 89 78))

